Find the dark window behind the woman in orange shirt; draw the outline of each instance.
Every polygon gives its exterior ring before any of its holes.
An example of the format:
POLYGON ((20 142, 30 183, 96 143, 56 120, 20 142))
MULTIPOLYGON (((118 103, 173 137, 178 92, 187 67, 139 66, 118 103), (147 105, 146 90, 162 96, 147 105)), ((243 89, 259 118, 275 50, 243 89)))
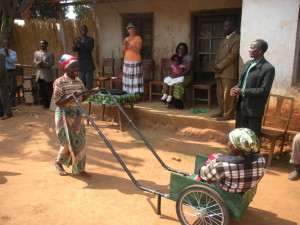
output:
POLYGON ((153 58, 153 14, 123 14, 122 21, 122 35, 123 40, 128 36, 126 26, 129 22, 132 22, 137 27, 137 33, 143 40, 143 46, 141 49, 142 59, 153 58))

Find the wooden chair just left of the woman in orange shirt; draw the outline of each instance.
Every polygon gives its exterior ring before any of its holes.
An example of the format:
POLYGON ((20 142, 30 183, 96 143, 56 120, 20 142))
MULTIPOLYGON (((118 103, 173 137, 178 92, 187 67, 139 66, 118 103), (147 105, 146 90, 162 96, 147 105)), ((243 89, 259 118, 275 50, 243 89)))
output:
POLYGON ((96 81, 97 86, 100 88, 105 87, 105 81, 109 81, 111 77, 115 74, 115 59, 114 58, 104 58, 102 60, 102 71, 96 71, 97 78, 94 79, 96 81))

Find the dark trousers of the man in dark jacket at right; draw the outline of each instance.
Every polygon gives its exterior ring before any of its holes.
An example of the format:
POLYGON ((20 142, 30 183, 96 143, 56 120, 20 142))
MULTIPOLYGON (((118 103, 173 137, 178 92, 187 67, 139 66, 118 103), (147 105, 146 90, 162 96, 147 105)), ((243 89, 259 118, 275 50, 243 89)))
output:
POLYGON ((235 128, 249 128, 258 138, 261 135, 262 117, 244 116, 242 111, 243 101, 239 101, 236 108, 235 128))

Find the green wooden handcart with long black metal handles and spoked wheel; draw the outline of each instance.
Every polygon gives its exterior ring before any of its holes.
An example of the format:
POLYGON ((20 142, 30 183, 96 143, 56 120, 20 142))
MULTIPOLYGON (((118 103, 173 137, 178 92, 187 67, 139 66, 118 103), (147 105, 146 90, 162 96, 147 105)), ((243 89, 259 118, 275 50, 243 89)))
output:
MULTIPOLYGON (((87 92, 87 91, 84 91, 87 92)), ((176 212, 178 219, 182 224, 204 224, 204 225, 227 225, 230 219, 239 220, 246 210, 250 202, 252 201, 257 187, 249 190, 243 194, 235 194, 227 192, 221 188, 214 185, 207 184, 195 180, 195 172, 190 174, 182 172, 176 169, 168 167, 161 158, 157 155, 155 150, 149 144, 147 139, 143 134, 137 129, 132 120, 128 117, 121 106, 116 102, 116 100, 111 95, 110 91, 105 89, 115 105, 118 106, 119 110, 127 118, 129 123, 139 134, 141 139, 145 142, 146 146, 151 150, 156 159, 160 164, 168 171, 171 171, 170 178, 170 190, 169 194, 164 194, 159 191, 142 186, 133 177, 131 172, 128 170, 122 159, 119 157, 117 152, 111 146, 109 141, 105 138, 103 133, 99 130, 98 126, 95 124, 93 119, 82 107, 76 96, 73 94, 73 98, 77 105, 81 108, 83 113, 90 120, 102 140, 105 142, 107 147, 111 150, 113 155, 116 157, 120 165, 123 167, 124 171, 130 177, 132 182, 141 190, 156 194, 158 196, 157 200, 157 214, 161 214, 161 197, 168 198, 170 200, 176 201, 176 212)), ((200 163, 206 162, 207 157, 203 155, 196 155, 195 168, 200 163)), ((196 170, 196 169, 195 169, 196 170)))

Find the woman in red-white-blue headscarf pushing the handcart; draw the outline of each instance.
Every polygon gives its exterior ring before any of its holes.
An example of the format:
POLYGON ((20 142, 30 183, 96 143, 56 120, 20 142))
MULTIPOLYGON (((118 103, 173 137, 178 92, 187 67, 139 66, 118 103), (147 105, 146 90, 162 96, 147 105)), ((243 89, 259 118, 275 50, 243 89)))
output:
POLYGON ((90 177, 85 172, 85 128, 82 122, 82 112, 72 97, 72 93, 81 103, 100 90, 94 88, 91 92, 82 93, 85 88, 78 78, 79 67, 76 57, 65 54, 59 63, 64 68, 65 74, 53 84, 54 103, 58 106, 55 112, 55 129, 61 145, 55 162, 56 170, 59 175, 65 176, 67 173, 62 165, 67 167, 72 165, 73 174, 90 177))

